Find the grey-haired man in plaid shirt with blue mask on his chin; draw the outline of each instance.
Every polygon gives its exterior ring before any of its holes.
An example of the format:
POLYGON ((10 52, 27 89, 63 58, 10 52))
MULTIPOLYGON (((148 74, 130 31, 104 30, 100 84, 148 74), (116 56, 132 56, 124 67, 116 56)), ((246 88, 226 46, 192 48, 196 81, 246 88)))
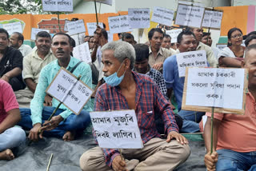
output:
POLYGON ((95 111, 134 109, 138 118, 142 149, 95 147, 80 158, 82 170, 173 170, 190 155, 185 137, 178 133, 170 103, 154 81, 132 71, 134 47, 127 42, 110 42, 102 47, 104 83, 95 96, 95 111), (154 114, 162 113, 167 139, 161 139, 154 114))

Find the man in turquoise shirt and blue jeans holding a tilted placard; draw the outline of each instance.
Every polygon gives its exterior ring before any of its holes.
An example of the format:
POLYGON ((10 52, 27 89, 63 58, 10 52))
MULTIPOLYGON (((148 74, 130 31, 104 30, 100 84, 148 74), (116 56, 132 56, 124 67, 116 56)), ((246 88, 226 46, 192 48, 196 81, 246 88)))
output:
POLYGON ((87 112, 91 111, 90 100, 87 101, 79 115, 72 113, 65 105, 60 105, 54 117, 50 121, 46 121, 60 104, 59 101, 53 98, 52 107, 43 106, 46 88, 54 80, 61 67, 70 72, 73 70, 73 74, 76 77, 81 75, 80 80, 91 87, 90 66, 84 62, 78 63, 80 61, 77 58, 70 56, 73 50, 71 43, 70 35, 54 34, 51 50, 57 60, 42 68, 34 97, 30 103, 30 109, 20 109, 22 121, 18 125, 21 125, 23 129, 30 130, 28 137, 31 141, 38 141, 38 137, 42 138, 42 135, 62 137, 64 141, 71 141, 74 140, 76 133, 82 133, 82 130, 86 129, 86 126, 90 124, 90 114, 87 112))

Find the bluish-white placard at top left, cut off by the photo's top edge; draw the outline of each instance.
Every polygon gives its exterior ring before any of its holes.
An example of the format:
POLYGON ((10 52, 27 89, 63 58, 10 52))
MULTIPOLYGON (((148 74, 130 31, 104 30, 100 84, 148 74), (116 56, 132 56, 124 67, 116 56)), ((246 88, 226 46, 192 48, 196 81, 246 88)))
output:
POLYGON ((73 0, 42 0, 42 10, 73 12, 73 0))

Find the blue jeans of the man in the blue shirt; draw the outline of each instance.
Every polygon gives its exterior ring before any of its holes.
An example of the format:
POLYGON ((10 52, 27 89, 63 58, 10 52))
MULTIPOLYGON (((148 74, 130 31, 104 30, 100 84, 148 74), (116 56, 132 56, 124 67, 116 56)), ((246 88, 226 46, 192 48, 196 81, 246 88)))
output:
POLYGON ((189 110, 180 110, 178 115, 183 119, 181 133, 196 133, 199 132, 199 124, 201 121, 204 112, 195 112, 189 110))

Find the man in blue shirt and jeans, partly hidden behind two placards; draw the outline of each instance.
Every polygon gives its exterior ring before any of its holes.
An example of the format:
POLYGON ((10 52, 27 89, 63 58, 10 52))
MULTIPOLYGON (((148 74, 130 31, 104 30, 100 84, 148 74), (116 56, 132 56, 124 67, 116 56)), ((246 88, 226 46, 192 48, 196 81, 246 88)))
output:
MULTIPOLYGON (((190 30, 182 31, 178 34, 177 47, 180 53, 194 51, 197 48, 197 41, 195 35, 190 30)), ((174 90, 174 95, 178 103, 178 115, 183 118, 183 125, 181 132, 194 133, 199 131, 199 122, 204 113, 194 111, 181 110, 182 107, 182 94, 185 78, 180 78, 178 75, 178 64, 176 55, 166 58, 163 64, 163 77, 166 82, 168 97, 174 90)))

